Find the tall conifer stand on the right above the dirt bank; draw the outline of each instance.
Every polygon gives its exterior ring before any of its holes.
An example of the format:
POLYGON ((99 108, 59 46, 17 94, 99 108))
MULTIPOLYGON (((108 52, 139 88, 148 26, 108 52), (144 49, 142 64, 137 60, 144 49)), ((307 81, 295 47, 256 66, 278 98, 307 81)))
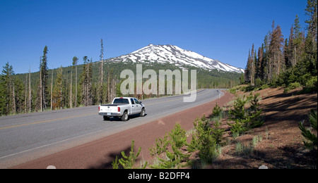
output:
POLYGON ((273 21, 264 43, 258 49, 252 44, 249 50, 242 83, 317 91, 317 0, 307 1, 305 14, 305 27, 301 27, 295 15, 289 37, 285 39, 280 25, 273 21))

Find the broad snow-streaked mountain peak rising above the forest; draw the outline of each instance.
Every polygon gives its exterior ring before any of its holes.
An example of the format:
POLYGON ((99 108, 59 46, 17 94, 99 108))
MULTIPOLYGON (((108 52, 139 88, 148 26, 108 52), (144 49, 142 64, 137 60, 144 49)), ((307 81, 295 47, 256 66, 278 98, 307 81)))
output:
POLYGON ((158 63, 172 63, 179 67, 182 65, 192 65, 197 68, 204 68, 206 70, 218 69, 228 72, 244 72, 242 68, 236 68, 226 63, 201 56, 193 51, 180 49, 178 46, 167 45, 153 45, 149 44, 142 49, 134 51, 124 56, 110 58, 110 61, 157 61, 158 63))

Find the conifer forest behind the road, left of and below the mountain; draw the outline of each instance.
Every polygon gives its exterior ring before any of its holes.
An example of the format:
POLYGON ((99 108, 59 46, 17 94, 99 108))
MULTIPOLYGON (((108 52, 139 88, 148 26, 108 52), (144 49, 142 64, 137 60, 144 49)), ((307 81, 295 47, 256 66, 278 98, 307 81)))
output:
MULTIPOLYGON (((102 59, 102 51, 103 49, 101 49, 100 59, 102 59)), ((45 46, 43 56, 40 58, 40 70, 37 72, 29 70, 25 74, 15 74, 9 63, 3 66, 0 76, 1 115, 110 103, 115 96, 122 96, 120 84, 125 80, 120 78, 122 70, 129 69, 136 73, 136 65, 140 64, 132 61, 102 60, 101 62, 100 60, 94 62, 88 56, 83 56, 83 58, 74 56, 73 61, 70 61, 71 66, 49 69, 47 68, 48 61, 49 47, 45 46), (101 75, 103 75, 103 79, 101 75)), ((181 70, 170 63, 146 61, 142 63, 142 66, 143 71, 155 70, 157 75, 159 70, 181 70)), ((240 82, 240 73, 208 71, 200 68, 187 69, 196 70, 198 89, 230 88, 240 82)), ((148 79, 143 79, 143 82, 146 80, 148 79)), ((158 95, 143 94, 135 95, 135 97, 147 99, 158 97, 158 95)))

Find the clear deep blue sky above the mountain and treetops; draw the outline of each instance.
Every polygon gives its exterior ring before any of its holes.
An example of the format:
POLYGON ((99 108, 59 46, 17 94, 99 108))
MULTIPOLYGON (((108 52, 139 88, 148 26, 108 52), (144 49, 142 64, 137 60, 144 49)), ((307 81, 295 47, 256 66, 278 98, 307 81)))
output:
MULTIPOLYGON (((0 0, 0 66, 16 73, 72 64, 73 56, 121 56, 148 44, 172 44, 245 68, 275 20, 284 39, 295 15, 305 27, 306 0, 0 0)), ((1 68, 2 70, 2 68, 1 68)))

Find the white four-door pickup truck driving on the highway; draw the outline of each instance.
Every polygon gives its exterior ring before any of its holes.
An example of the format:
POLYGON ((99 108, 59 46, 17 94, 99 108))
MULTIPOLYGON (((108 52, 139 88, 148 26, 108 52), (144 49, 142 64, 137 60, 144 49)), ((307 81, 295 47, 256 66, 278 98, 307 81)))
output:
POLYGON ((114 98, 112 104, 100 105, 98 111, 104 120, 108 120, 110 117, 117 117, 126 121, 129 115, 140 114, 141 117, 145 116, 146 106, 133 97, 117 97, 114 98))

